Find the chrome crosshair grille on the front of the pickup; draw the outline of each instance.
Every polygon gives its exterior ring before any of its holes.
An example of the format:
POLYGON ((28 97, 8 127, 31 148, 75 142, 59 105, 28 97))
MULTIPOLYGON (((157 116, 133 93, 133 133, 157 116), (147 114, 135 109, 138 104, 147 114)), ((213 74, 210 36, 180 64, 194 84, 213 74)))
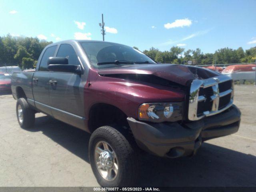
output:
POLYGON ((199 120, 218 114, 233 104, 233 81, 226 75, 193 80, 190 87, 188 119, 199 120))

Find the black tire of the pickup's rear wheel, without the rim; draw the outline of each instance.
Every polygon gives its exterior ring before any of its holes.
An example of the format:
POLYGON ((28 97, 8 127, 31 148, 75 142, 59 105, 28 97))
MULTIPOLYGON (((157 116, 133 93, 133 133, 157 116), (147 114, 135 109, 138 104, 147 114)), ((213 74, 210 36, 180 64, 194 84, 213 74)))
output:
POLYGON ((26 99, 24 98, 19 98, 17 100, 17 104, 16 104, 16 115, 17 115, 17 119, 18 119, 18 123, 20 124, 21 128, 24 129, 30 129, 34 127, 34 123, 35 123, 35 112, 33 109, 30 108, 30 106, 28 105, 28 102, 26 99), (19 119, 19 115, 18 115, 18 108, 22 109, 22 121, 19 119))

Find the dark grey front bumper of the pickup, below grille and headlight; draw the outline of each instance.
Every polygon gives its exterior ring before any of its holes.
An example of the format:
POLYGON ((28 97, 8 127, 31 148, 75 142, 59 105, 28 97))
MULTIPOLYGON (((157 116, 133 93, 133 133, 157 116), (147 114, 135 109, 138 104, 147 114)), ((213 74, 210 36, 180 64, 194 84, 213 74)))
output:
POLYGON ((158 156, 176 158, 194 154, 205 140, 237 132, 240 116, 240 110, 232 105, 220 114, 183 124, 127 120, 140 148, 158 156))

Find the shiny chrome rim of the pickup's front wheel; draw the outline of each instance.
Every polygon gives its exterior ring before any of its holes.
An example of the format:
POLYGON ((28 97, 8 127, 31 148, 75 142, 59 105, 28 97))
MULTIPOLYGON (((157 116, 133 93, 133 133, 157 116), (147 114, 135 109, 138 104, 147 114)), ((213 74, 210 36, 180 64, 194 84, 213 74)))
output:
POLYGON ((94 160, 100 175, 113 181, 118 175, 118 159, 113 148, 106 141, 99 141, 94 148, 94 160))

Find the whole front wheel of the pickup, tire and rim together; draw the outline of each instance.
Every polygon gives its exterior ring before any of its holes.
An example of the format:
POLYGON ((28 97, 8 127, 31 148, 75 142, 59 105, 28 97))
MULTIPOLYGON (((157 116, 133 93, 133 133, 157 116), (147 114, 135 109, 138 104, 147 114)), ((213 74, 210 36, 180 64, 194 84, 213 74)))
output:
POLYGON ((101 186, 132 186, 138 173, 136 151, 116 129, 96 129, 89 141, 92 171, 101 186))

